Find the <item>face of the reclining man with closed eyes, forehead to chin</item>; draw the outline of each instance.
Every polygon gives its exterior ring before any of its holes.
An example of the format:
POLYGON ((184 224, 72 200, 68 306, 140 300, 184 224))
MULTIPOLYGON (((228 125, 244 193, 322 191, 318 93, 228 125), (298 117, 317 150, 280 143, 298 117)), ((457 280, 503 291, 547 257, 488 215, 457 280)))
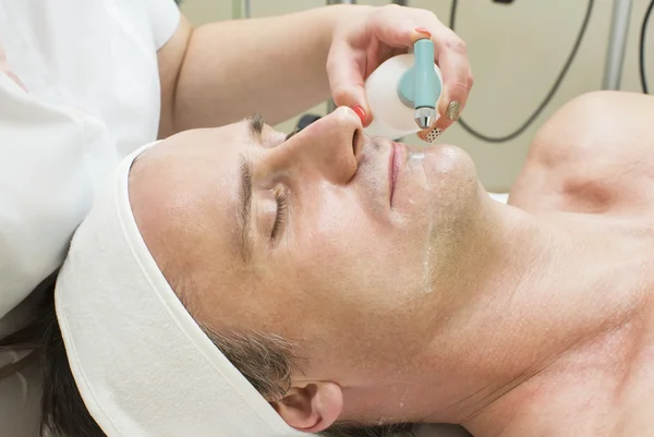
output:
POLYGON ((295 341, 306 377, 388 377, 368 363, 416 352, 438 318, 424 302, 461 267, 472 162, 365 137, 347 108, 288 139, 257 125, 189 131, 140 158, 145 242, 198 321, 295 341))

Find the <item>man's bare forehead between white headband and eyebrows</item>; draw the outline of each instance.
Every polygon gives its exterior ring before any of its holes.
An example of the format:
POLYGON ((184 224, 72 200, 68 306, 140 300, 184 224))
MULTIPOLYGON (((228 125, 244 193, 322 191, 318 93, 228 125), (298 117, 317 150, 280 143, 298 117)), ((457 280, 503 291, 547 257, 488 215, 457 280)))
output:
POLYGON ((238 123, 175 135, 135 162, 134 218, 173 289, 181 278, 203 282, 210 271, 239 272, 240 161, 253 147, 246 123, 238 123))

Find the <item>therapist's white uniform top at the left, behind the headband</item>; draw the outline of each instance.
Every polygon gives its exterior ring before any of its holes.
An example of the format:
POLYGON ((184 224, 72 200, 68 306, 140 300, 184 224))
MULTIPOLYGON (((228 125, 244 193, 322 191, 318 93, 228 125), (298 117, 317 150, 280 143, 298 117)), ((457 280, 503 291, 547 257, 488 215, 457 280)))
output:
MULTIPOLYGON (((114 165, 156 139, 179 20, 173 0, 0 0, 0 335, 114 165)), ((0 380, 0 437, 37 435, 33 373, 0 380)))

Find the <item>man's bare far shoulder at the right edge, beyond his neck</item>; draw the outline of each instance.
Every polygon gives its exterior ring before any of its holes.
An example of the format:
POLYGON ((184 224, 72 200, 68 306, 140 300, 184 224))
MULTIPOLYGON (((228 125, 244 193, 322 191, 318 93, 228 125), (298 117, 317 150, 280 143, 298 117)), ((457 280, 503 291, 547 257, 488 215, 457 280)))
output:
POLYGON ((654 97, 596 92, 538 131, 510 203, 538 210, 654 211, 654 97))

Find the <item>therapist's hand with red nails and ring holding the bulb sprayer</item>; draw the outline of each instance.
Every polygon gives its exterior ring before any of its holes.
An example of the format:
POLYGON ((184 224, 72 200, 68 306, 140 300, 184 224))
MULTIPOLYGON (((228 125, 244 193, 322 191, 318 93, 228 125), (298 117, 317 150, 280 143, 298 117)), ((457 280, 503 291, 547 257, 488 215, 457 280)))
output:
POLYGON ((373 118, 365 98, 365 78, 390 57, 405 53, 416 40, 426 38, 434 41, 444 89, 438 106, 440 118, 419 136, 435 141, 459 118, 473 78, 465 44, 429 11, 395 4, 352 8, 351 15, 335 28, 327 59, 334 102, 354 109, 367 126, 373 118))

